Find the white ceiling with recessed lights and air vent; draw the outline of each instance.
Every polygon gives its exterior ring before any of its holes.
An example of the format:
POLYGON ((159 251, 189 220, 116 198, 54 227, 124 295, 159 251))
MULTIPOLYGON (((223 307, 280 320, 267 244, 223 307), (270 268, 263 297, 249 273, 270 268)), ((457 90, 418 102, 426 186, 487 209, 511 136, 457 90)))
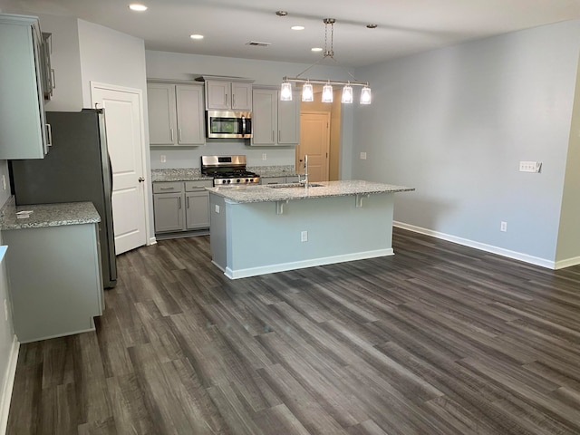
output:
POLYGON ((334 59, 352 67, 580 18, 580 0, 133 1, 149 9, 131 12, 129 0, 0 0, 0 9, 76 16, 139 37, 148 50, 298 63, 323 57, 311 48, 324 47, 323 19, 329 17, 336 19, 334 59), (278 10, 288 14, 277 16, 278 10), (305 29, 291 30, 295 24, 305 29), (190 34, 205 37, 194 41, 190 34))

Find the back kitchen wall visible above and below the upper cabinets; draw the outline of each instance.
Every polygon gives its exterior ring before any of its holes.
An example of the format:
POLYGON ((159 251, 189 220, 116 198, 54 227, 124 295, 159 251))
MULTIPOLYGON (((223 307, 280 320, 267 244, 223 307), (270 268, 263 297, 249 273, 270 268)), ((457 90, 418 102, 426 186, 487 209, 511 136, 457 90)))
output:
MULTIPOLYGON (((199 75, 224 75, 253 79, 254 84, 279 85, 284 76, 296 76, 309 65, 234 59, 198 54, 146 51, 147 77, 166 80, 194 80, 199 75)), ((316 66, 310 78, 345 80, 344 71, 336 66, 316 66)), ((306 76, 304 76, 306 77, 306 76)), ((244 140, 208 140, 201 147, 153 147, 151 168, 198 168, 199 156, 214 154, 245 154, 248 166, 294 165, 295 147, 252 147, 244 140), (266 153, 266 160, 262 154, 266 153), (160 156, 166 158, 161 163, 160 156)))

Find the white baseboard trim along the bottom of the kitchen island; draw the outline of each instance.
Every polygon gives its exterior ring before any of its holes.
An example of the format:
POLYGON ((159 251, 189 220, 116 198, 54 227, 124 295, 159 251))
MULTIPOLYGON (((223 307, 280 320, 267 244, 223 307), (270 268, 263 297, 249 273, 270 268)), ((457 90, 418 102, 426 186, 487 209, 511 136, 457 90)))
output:
MULTIPOLYGON (((226 267, 224 275, 226 275, 230 279, 247 278, 248 276, 266 275, 273 274, 275 272, 284 272, 285 270, 304 269, 304 267, 332 265, 334 263, 343 263, 345 261, 364 260, 367 258, 376 258, 377 256, 393 256, 393 255, 394 252, 390 247, 386 249, 376 249, 374 251, 364 251, 364 252, 356 252, 353 254, 344 254, 342 256, 324 256, 322 258, 293 261, 290 263, 280 263, 278 265, 249 267, 247 269, 232 270, 231 268, 226 267)), ((214 265, 216 265, 216 263, 214 263, 214 265)), ((221 267, 219 268, 220 270, 224 270, 221 267)))

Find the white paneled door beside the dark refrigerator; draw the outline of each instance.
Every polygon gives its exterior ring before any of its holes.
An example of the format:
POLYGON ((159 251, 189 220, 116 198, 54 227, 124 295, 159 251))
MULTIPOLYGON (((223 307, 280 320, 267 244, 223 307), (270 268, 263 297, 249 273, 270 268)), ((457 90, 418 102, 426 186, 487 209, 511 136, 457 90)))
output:
POLYGON ((91 83, 92 105, 105 111, 112 166, 112 218, 117 255, 147 243, 140 90, 91 83))

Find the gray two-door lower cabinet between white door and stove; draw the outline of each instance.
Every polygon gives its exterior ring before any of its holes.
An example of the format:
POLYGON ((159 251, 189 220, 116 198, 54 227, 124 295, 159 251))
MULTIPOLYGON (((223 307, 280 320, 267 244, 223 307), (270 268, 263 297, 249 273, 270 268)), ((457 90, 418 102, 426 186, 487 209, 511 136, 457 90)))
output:
POLYGON ((209 227, 209 193, 213 181, 153 183, 155 233, 171 233, 209 227))

